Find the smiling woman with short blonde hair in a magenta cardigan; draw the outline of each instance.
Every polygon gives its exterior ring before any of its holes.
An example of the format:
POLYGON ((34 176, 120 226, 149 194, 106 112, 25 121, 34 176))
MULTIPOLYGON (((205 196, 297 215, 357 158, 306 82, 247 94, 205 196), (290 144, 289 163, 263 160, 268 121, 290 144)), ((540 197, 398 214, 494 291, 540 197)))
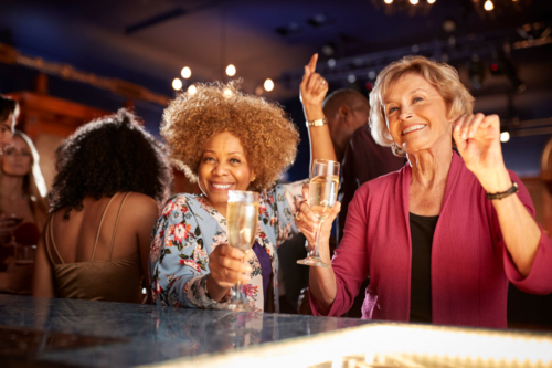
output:
MULTIPOLYGON (((508 282, 552 292, 552 241, 505 166, 499 117, 473 102, 447 64, 408 56, 380 73, 372 135, 408 161, 357 191, 332 266, 310 270, 316 315, 347 312, 368 275, 362 317, 374 319, 503 328, 508 282)), ((327 262, 338 211, 322 223, 327 262)), ((296 223, 312 242, 310 214, 302 202, 296 223)))

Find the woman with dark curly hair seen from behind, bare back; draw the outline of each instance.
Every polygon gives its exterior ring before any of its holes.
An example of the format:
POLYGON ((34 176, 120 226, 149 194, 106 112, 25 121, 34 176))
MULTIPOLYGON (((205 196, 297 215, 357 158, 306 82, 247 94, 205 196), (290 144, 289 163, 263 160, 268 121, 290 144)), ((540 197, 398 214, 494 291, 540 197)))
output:
POLYGON ((161 144, 120 109, 67 138, 56 170, 33 295, 141 302, 151 229, 171 181, 161 144))

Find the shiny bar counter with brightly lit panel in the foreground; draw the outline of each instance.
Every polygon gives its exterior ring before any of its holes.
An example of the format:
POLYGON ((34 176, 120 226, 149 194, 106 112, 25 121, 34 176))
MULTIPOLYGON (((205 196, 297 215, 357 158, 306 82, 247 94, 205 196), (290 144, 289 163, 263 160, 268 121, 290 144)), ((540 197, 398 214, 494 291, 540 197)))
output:
POLYGON ((552 367, 552 334, 0 295, 3 367, 552 367))

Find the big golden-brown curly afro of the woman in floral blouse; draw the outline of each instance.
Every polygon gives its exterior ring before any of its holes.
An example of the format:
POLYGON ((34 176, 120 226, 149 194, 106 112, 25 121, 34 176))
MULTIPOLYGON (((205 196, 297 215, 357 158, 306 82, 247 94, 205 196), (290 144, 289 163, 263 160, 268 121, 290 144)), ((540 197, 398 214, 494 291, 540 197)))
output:
POLYGON ((252 190, 266 190, 294 164, 299 134, 276 103, 244 94, 240 82, 197 84, 197 93, 181 93, 166 108, 161 135, 174 164, 192 181, 203 148, 217 133, 237 137, 255 170, 252 190))

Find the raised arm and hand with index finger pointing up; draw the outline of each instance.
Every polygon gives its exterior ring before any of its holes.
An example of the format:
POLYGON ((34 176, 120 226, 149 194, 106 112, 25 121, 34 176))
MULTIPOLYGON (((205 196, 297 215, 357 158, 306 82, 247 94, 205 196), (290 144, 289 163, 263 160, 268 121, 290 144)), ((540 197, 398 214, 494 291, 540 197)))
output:
MULTIPOLYGON (((307 122, 323 119, 322 103, 328 92, 328 82, 316 73, 318 54, 314 54, 308 65, 305 66, 305 75, 300 85, 301 103, 307 122)), ((336 151, 331 143, 328 124, 311 126, 309 129, 310 141, 310 167, 315 159, 336 160, 336 151)))

